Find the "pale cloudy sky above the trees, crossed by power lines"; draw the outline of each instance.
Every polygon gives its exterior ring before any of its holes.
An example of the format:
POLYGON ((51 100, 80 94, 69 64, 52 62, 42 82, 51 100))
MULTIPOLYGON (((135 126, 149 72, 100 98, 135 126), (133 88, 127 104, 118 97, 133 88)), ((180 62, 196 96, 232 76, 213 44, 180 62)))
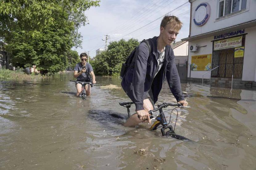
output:
POLYGON ((74 49, 78 54, 89 51, 95 57, 96 50, 105 48, 105 35, 111 41, 130 38, 143 39, 159 36, 160 23, 164 15, 175 15, 183 27, 176 41, 189 35, 190 3, 188 0, 101 0, 99 7, 85 11, 89 24, 79 32, 83 36, 82 48, 74 49), (184 4, 184 5, 183 5, 184 4))

